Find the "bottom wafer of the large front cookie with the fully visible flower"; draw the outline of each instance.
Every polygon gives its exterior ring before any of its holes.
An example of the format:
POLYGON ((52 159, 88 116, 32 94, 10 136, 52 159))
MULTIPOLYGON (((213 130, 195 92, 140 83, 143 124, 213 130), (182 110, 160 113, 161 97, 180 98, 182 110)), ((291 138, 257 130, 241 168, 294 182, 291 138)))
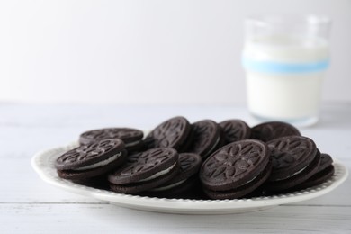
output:
POLYGON ((235 187, 227 191, 212 191, 206 188, 203 189, 203 192, 211 199, 237 199, 247 195, 252 195, 257 188, 264 184, 272 170, 272 163, 269 162, 266 168, 255 177, 253 180, 243 184, 241 186, 235 187))

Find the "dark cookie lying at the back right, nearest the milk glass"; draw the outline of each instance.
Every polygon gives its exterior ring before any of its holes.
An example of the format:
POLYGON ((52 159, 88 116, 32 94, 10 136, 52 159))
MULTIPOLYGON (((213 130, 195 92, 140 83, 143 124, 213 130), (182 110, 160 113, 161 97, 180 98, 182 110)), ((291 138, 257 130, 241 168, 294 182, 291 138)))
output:
POLYGON ((251 138, 269 141, 286 136, 301 136, 299 130, 292 124, 283 121, 268 121, 254 126, 251 129, 251 138))

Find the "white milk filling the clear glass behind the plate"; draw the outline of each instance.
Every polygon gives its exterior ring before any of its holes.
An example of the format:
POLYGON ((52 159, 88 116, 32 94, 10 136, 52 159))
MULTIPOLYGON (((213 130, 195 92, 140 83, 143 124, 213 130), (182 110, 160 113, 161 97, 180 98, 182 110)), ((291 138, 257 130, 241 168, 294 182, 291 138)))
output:
POLYGON ((309 125, 318 121, 329 43, 321 38, 269 35, 247 40, 243 50, 247 105, 261 120, 309 125))

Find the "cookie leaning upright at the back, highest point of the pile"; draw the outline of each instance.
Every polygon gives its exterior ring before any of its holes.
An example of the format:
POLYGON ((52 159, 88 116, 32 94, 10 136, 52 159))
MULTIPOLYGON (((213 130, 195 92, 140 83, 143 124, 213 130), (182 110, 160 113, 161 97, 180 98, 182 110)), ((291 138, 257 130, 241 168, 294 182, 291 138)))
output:
POLYGON ((175 148, 182 152, 189 140, 191 125, 182 116, 177 116, 159 124, 148 133, 145 144, 148 148, 175 148))

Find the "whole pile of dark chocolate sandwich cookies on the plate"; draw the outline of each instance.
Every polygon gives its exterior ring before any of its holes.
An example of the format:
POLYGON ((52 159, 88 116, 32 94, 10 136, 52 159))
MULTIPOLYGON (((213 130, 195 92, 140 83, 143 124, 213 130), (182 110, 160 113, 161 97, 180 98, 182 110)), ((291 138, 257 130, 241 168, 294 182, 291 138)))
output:
POLYGON ((58 176, 116 193, 163 198, 236 199, 286 193, 334 175, 332 157, 291 124, 183 116, 147 136, 131 128, 88 130, 58 157, 58 176), (96 180, 98 178, 98 180, 96 180))

